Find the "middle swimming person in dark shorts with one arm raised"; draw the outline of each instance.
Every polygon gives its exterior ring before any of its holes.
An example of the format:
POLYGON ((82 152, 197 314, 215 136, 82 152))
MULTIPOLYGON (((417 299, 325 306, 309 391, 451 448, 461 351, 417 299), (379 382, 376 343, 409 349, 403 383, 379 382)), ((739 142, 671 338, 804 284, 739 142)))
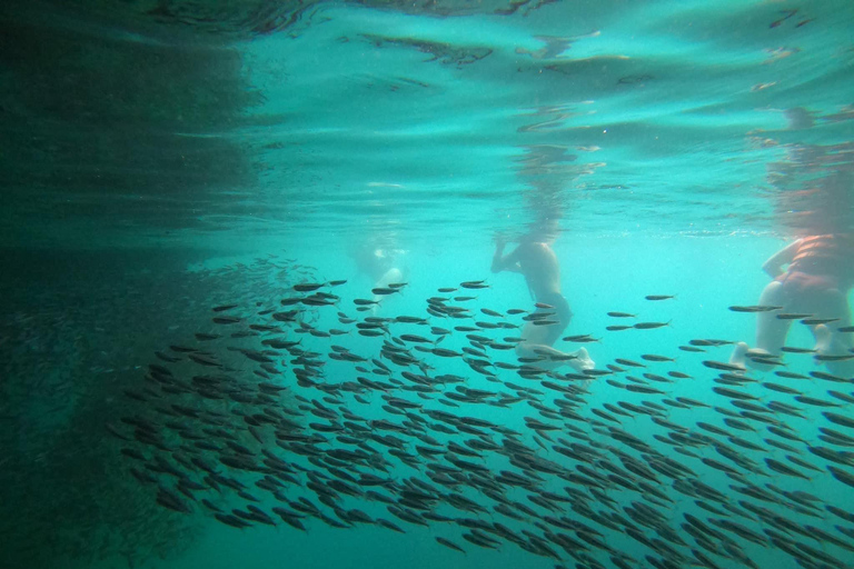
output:
POLYGON ((540 305, 533 315, 543 315, 543 319, 555 322, 539 326, 529 320, 522 330, 523 341, 516 345, 516 353, 520 358, 543 358, 536 365, 545 369, 554 369, 564 363, 577 371, 592 369, 594 362, 586 349, 567 353, 552 347, 573 318, 569 303, 560 292, 560 266, 550 247, 553 241, 554 238, 545 233, 534 233, 524 238, 513 252, 504 256, 504 240, 496 239, 493 272, 520 272, 532 297, 540 305))

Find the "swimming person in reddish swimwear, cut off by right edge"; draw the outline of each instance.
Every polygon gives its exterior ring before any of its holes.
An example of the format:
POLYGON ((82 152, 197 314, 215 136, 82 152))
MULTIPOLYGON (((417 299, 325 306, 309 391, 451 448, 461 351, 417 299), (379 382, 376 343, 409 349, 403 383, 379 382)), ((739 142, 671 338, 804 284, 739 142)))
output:
POLYGON ((810 315, 811 319, 838 319, 810 325, 815 338, 815 356, 834 373, 854 372, 852 335, 840 328, 851 327, 848 291, 854 287, 854 239, 850 233, 808 236, 781 249, 763 264, 774 280, 763 290, 759 305, 783 307, 758 312, 756 347, 736 345, 732 363, 767 369, 769 363, 754 358, 781 355, 788 336, 791 319, 777 318, 779 312, 810 315), (788 264, 786 270, 783 266, 788 264), (827 326, 830 325, 830 327, 827 326), (838 358, 838 359, 834 359, 838 358))

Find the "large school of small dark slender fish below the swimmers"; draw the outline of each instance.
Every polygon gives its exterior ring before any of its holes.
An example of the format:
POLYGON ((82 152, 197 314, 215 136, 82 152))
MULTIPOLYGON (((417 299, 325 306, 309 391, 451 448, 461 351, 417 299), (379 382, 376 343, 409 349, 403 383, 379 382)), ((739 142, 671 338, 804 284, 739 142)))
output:
MULTIPOLYGON (((210 307, 208 328, 155 353, 106 423, 151 500, 236 531, 429 528, 460 555, 518 547, 557 568, 757 569, 756 548, 852 567, 854 392, 821 360, 802 375, 763 357, 776 369, 758 372, 727 361, 733 341, 693 338, 676 350, 702 377, 666 352, 566 372, 516 356, 526 322, 550 325, 548 307, 479 307, 484 280, 439 287, 421 313, 397 316, 375 316, 375 298, 407 283, 355 300, 346 284, 210 307), (607 401, 589 397, 592 382, 607 401), (686 397, 697 382, 705 397, 686 397)), ((603 333, 669 326, 607 316, 619 323, 603 333)))

